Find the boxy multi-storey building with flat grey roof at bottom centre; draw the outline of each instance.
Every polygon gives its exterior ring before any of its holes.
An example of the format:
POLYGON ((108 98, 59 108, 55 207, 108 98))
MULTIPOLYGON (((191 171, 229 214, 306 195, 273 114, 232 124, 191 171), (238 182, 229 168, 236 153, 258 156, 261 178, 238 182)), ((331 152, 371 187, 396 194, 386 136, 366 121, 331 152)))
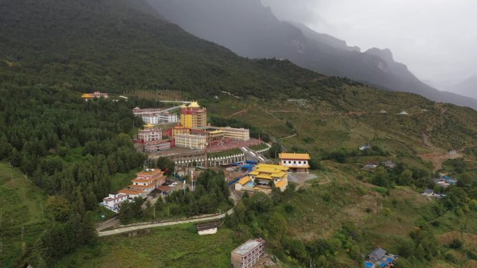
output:
POLYGON ((265 255, 265 240, 251 239, 234 249, 231 254, 233 268, 253 267, 265 255))

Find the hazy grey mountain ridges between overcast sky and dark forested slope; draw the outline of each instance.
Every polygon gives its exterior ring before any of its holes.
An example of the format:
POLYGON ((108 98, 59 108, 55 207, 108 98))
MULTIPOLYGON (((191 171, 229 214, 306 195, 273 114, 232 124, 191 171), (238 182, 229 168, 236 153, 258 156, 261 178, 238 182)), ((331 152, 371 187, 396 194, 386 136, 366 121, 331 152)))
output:
POLYGON ((349 77, 386 90, 417 93, 477 109, 477 100, 420 81, 389 49, 361 52, 303 24, 283 22, 259 0, 148 0, 158 13, 199 38, 249 58, 286 58, 322 74, 349 77))

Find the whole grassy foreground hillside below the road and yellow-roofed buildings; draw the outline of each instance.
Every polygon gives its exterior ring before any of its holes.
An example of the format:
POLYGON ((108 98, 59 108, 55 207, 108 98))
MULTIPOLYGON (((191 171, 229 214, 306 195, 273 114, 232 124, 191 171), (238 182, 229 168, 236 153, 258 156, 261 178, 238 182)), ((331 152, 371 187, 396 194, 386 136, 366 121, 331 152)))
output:
MULTIPOLYGON (((63 258, 56 267, 93 264, 98 267, 229 267, 230 251, 245 239, 257 236, 267 239, 267 251, 285 262, 280 263, 282 267, 301 267, 297 261, 301 258, 305 263, 311 258, 322 267, 361 267, 358 255, 369 253, 375 246, 400 254, 403 257, 400 267, 472 267, 475 264, 471 252, 477 246, 476 212, 457 215, 449 211, 439 215, 439 203, 413 189, 401 187, 381 194, 374 185, 356 180, 352 175, 354 169, 349 166, 327 162, 326 168, 322 175, 328 182, 311 182, 296 192, 282 194, 279 201, 273 195, 273 207, 259 213, 243 211, 240 204, 238 214, 255 215, 247 226, 231 226, 231 219, 227 219, 227 225, 221 226, 217 235, 205 237, 197 235, 194 226, 189 224, 156 228, 137 237, 107 237, 92 249, 82 249, 63 258), (277 212, 284 215, 286 221, 285 226, 278 227, 286 230, 281 241, 272 235, 271 217, 277 212), (352 238, 343 237, 345 226, 353 233, 352 238), (409 234, 416 230, 435 235, 427 239, 435 239, 439 255, 432 258, 415 255, 409 234), (287 246, 287 239, 293 239, 294 247, 287 246), (462 246, 451 248, 453 239, 460 240, 462 246), (301 255, 305 249, 312 252, 320 243, 326 246, 319 254, 326 258, 301 255), (300 250, 302 253, 298 253, 300 250), (455 255, 455 259, 448 255, 455 255)), ((244 203, 265 206, 266 200, 259 200, 255 203, 257 200, 250 198, 244 203)))

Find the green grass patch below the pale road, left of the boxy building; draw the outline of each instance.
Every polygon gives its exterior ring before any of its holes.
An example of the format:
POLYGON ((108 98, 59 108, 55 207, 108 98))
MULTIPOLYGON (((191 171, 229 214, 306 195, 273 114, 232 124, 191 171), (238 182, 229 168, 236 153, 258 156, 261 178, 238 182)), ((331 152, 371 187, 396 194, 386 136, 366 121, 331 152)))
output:
POLYGON ((219 228, 215 235, 197 235, 184 224, 156 228, 137 237, 109 237, 93 249, 83 249, 56 264, 56 268, 160 268, 229 267, 230 252, 239 246, 232 230, 219 228))

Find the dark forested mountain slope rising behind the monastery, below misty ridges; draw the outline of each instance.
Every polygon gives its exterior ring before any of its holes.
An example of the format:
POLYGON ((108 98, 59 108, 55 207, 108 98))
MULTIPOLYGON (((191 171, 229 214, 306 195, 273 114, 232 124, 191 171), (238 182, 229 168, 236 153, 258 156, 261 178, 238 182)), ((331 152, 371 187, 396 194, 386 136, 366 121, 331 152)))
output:
MULTIPOLYGON (((140 2, 135 2, 135 6, 143 6, 140 2)), ((181 89, 190 97, 212 97, 226 90, 241 97, 264 100, 306 98, 317 100, 321 107, 332 111, 369 113, 378 112, 377 107, 404 110, 429 109, 434 105, 418 95, 324 77, 289 61, 241 58, 229 49, 195 38, 174 24, 130 8, 130 1, 125 3, 3 1, 0 85, 16 88, 66 84, 73 90, 98 89, 110 93, 181 89)), ((475 111, 452 105, 439 107, 426 123, 421 121, 423 132, 438 132, 436 136, 452 132, 459 138, 448 143, 443 136, 435 145, 455 148, 475 141, 475 111), (454 127, 448 129, 451 126, 454 127)), ((423 117, 416 120, 419 122, 423 117)), ((399 129, 412 130, 411 127, 399 129)))

